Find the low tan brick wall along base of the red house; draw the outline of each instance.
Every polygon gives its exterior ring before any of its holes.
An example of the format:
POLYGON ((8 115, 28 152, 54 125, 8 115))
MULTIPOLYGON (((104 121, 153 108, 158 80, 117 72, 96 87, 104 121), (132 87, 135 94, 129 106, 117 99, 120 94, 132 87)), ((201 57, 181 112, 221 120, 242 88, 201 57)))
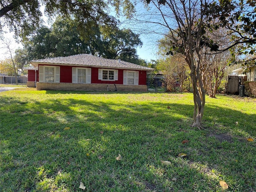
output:
MULTIPOLYGON (((118 91, 148 90, 146 85, 116 85, 118 91)), ((36 83, 37 90, 64 90, 64 91, 114 91, 114 84, 74 84, 74 83, 36 83)))

